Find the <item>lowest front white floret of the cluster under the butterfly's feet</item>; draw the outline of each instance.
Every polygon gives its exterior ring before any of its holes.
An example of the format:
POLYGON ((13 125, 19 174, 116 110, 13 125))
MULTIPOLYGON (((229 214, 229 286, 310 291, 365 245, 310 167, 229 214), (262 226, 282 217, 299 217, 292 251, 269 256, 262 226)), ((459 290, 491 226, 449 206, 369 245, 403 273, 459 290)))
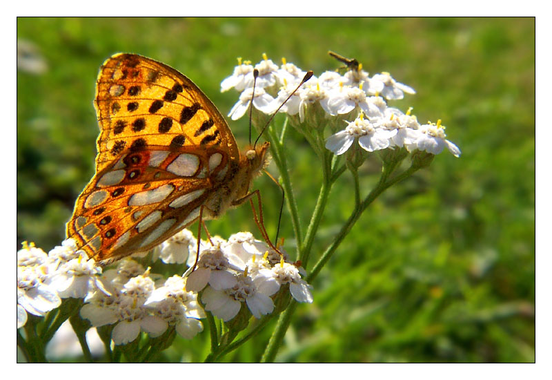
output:
POLYGON ((257 276, 253 280, 249 276, 241 274, 236 275, 235 278, 235 285, 230 289, 216 290, 213 287, 205 289, 201 296, 205 310, 213 312, 215 316, 225 322, 236 316, 244 301, 251 314, 257 319, 273 312, 274 303, 270 296, 277 292, 278 287, 273 292, 274 287, 264 286, 266 281, 273 280, 273 278, 257 276))

